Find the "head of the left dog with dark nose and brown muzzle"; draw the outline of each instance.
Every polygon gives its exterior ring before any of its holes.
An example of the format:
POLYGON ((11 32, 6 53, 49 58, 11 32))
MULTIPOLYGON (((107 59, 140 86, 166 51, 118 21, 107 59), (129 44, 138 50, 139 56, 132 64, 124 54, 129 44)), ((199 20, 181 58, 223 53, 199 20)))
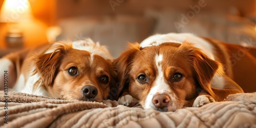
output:
POLYGON ((90 52, 97 47, 93 44, 76 43, 58 43, 35 58, 34 73, 40 76, 37 85, 44 87, 49 96, 60 99, 98 102, 108 99, 110 87, 116 82, 111 60, 90 52))

